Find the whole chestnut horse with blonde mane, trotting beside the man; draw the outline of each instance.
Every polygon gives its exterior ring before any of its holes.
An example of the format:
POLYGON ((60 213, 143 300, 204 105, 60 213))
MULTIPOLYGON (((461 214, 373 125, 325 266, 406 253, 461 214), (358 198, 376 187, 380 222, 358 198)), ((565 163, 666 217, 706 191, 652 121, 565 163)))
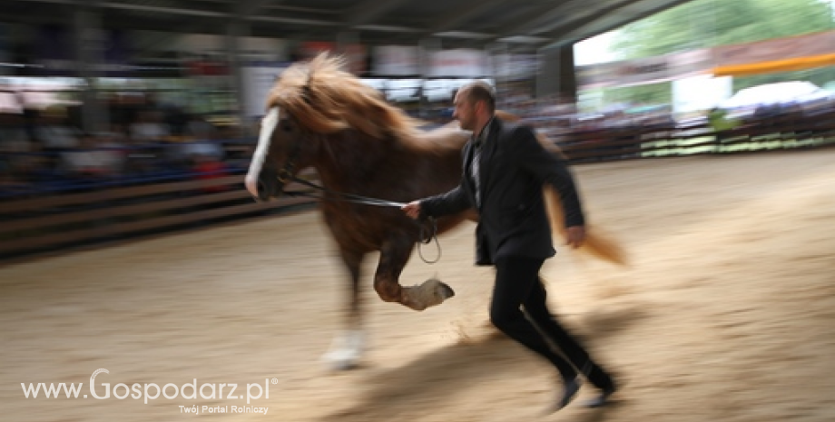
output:
MULTIPOLYGON (((268 93, 266 110, 244 184, 256 201, 270 201, 288 183, 299 182, 299 172, 318 173, 321 216, 350 282, 346 328, 323 358, 334 368, 354 368, 363 350, 360 264, 368 253, 379 252, 373 281, 379 299, 420 311, 440 305, 455 291, 436 279, 413 286, 399 282, 415 246, 425 240, 426 221, 408 218, 397 205, 341 200, 351 195, 397 204, 451 190, 461 180, 461 152, 471 133, 455 124, 424 130, 421 121, 388 103, 346 72, 341 57, 329 54, 285 69, 268 93)), ((560 153, 554 142, 540 142, 560 153)), ((546 185, 544 195, 552 228, 564 230, 558 194, 546 185)), ((477 221, 476 213, 438 218, 433 229, 439 235, 463 221, 477 221)), ((586 231, 581 250, 625 262, 616 242, 588 225, 586 231)))

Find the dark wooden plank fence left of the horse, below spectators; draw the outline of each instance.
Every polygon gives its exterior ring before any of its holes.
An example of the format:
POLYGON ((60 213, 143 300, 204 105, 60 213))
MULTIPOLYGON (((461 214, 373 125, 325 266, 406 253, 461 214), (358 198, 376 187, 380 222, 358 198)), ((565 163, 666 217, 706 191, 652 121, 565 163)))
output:
MULTIPOLYGON (((304 174, 315 181, 315 175, 304 174)), ((290 184, 289 189, 303 186, 290 184)), ((3 201, 0 259, 123 240, 136 235, 204 227, 233 218, 289 211, 307 198, 253 201, 243 175, 156 182, 3 201)))

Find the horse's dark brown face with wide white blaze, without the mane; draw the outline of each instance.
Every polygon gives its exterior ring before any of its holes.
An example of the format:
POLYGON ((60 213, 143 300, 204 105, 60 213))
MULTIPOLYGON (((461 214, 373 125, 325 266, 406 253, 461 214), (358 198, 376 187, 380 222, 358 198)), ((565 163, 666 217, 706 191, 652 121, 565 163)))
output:
POLYGON ((315 148, 299 123, 276 105, 261 121, 258 146, 246 175, 247 191, 260 201, 278 197, 300 170, 309 167, 315 148))

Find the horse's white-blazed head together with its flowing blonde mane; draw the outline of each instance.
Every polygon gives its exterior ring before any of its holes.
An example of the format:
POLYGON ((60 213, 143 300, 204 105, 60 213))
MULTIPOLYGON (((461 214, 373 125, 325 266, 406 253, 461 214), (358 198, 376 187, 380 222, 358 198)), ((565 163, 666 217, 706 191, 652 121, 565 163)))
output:
POLYGON ((246 176, 247 190, 262 201, 279 195, 290 176, 313 165, 319 148, 327 148, 329 137, 339 132, 385 140, 416 127, 377 90, 346 72, 341 58, 327 54, 285 69, 270 91, 268 110, 246 176))

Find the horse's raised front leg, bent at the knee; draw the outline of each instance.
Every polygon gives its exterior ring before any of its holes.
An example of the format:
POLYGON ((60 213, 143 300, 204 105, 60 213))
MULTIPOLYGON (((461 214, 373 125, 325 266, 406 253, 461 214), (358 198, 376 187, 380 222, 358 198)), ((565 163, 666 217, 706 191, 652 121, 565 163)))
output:
POLYGON ((380 299, 423 310, 455 296, 452 288, 436 279, 426 280, 417 286, 400 286, 400 272, 406 267, 414 247, 415 240, 408 236, 393 238, 383 245, 374 275, 374 290, 377 290, 380 299))

